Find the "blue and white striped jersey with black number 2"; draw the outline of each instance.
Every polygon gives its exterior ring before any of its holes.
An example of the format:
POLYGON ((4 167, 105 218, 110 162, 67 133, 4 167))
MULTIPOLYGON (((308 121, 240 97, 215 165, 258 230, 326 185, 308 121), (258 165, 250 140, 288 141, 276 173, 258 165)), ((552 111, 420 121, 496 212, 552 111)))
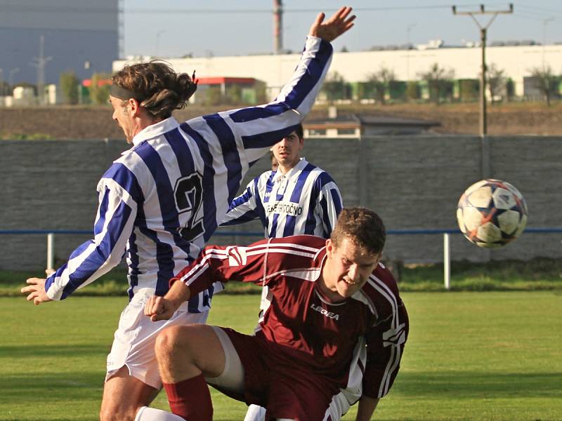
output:
MULTIPOLYGON (((140 288, 164 295, 169 279, 197 258, 223 220, 249 166, 310 111, 331 58, 329 43, 308 36, 299 65, 273 102, 182 124, 171 117, 138 133, 98 184, 94 238, 48 277, 48 297, 66 298, 124 255, 129 298, 140 288)), ((208 309, 214 292, 190 299, 190 311, 208 309)))

